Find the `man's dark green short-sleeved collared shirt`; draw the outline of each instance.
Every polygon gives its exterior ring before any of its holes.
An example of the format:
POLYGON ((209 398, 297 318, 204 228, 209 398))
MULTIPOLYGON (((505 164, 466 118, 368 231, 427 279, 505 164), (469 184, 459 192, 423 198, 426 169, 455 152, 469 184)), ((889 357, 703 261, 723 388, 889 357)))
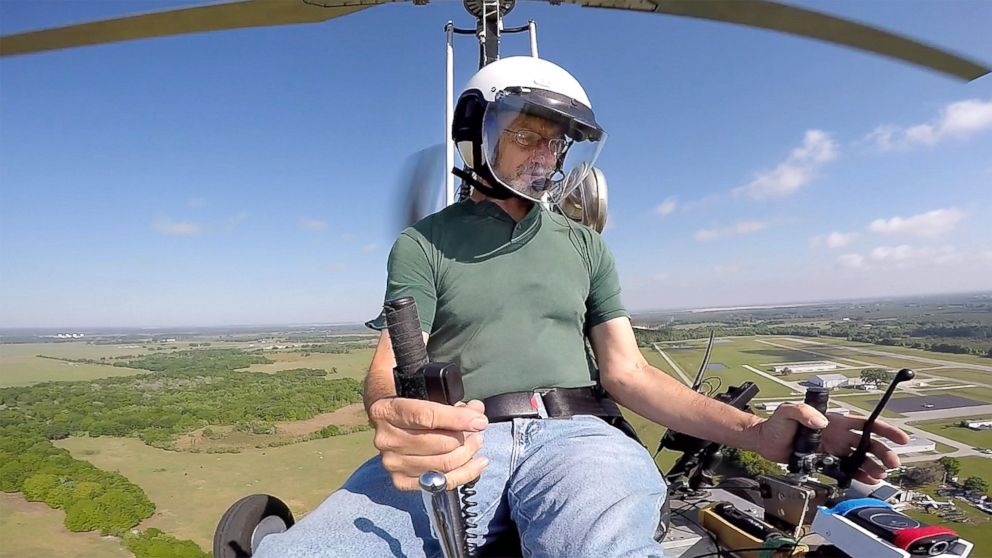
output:
POLYGON ((461 368, 466 400, 595 384, 587 328, 629 317, 599 234, 539 205, 515 223, 494 203, 466 200, 404 230, 386 300, 404 296, 430 333, 431 361, 461 368))

